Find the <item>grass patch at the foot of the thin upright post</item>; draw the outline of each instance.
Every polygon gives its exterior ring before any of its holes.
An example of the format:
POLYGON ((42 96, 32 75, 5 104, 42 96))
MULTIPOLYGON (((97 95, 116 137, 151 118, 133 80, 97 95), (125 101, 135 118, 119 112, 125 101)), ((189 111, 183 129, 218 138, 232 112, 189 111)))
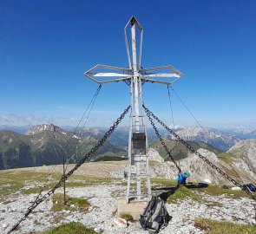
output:
POLYGON ((52 196, 53 205, 51 207, 52 211, 83 211, 86 212, 89 209, 89 201, 83 198, 70 198, 66 195, 66 204, 64 204, 64 195, 62 193, 56 193, 52 196))

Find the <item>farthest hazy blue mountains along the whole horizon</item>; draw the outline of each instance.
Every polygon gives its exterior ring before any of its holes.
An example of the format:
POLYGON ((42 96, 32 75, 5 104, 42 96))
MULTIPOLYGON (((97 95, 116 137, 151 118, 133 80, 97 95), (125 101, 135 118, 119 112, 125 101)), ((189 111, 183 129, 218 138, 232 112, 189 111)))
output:
MULTIPOLYGON (((15 126, 0 126, 1 130, 10 130, 16 133, 27 133, 31 126, 15 127, 15 126)), ((61 127, 65 131, 72 132, 74 127, 63 126, 61 127)), ((82 136, 93 136, 96 139, 101 138, 103 134, 108 130, 107 127, 80 127, 79 131, 82 136)), ((168 135, 167 132, 160 128, 160 133, 170 139, 174 139, 168 135)), ((181 134, 184 140, 204 141, 213 146, 219 147, 220 150, 226 151, 233 146, 239 140, 256 139, 256 130, 237 127, 233 129, 217 129, 210 127, 180 127, 175 128, 175 132, 181 134)), ((154 130, 148 127, 148 140, 152 143, 157 140, 154 130)), ((115 146, 127 146, 128 145, 128 127, 118 127, 110 138, 111 144, 115 146)))

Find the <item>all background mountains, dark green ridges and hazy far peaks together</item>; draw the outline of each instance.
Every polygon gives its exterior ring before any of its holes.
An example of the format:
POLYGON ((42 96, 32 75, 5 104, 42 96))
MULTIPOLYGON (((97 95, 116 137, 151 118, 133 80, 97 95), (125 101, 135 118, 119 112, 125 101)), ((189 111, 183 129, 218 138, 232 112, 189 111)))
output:
MULTIPOLYGON (((0 129, 8 127, 0 127, 0 129)), ((69 163, 77 163, 82 156, 95 146, 107 131, 105 127, 81 127, 73 135, 72 127, 57 127, 52 124, 34 127, 10 127, 0 131, 0 169, 25 166, 43 166, 61 164, 64 155, 69 163), (69 129, 69 130, 67 130, 69 129), (24 134, 15 132, 23 132, 24 134), (26 130, 26 131, 24 131, 26 130)), ((187 140, 196 150, 204 148, 216 155, 226 152, 234 144, 242 140, 241 136, 256 138, 255 131, 226 132, 204 127, 186 127, 175 129, 182 139, 187 140), (240 137, 239 137, 240 136, 240 137)), ((163 129, 159 129, 163 139, 175 159, 185 159, 191 154, 185 146, 174 140, 163 129)), ((162 148, 154 129, 148 128, 149 146, 157 150, 164 159, 167 153, 162 148)), ((121 159, 127 157, 128 127, 118 127, 108 141, 99 149, 92 160, 121 159)))

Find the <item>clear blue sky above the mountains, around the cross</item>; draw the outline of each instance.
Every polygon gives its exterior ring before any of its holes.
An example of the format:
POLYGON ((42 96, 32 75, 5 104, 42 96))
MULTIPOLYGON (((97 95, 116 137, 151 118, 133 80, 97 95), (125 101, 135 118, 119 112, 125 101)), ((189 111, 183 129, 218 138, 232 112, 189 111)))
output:
MULTIPOLYGON (((174 83, 200 124, 256 129, 255 1, 0 1, 0 125, 75 125, 97 85, 95 64, 128 66, 123 28, 144 28, 142 66, 172 64, 174 83)), ((145 84, 145 103, 171 123, 167 87, 145 84)), ((171 93, 174 122, 196 125, 171 93)), ((128 106, 125 83, 102 87, 89 125, 128 106)))

